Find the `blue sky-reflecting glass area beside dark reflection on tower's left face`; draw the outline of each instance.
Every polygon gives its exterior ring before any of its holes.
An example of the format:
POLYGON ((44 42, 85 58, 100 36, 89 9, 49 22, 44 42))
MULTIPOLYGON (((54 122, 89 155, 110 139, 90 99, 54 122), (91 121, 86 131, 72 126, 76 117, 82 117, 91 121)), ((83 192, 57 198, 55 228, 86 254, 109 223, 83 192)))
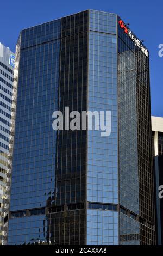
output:
POLYGON ((56 132, 52 130, 50 113, 58 108, 54 106, 54 99, 58 97, 59 50, 57 40, 21 51, 11 211, 45 207, 55 189, 56 132))

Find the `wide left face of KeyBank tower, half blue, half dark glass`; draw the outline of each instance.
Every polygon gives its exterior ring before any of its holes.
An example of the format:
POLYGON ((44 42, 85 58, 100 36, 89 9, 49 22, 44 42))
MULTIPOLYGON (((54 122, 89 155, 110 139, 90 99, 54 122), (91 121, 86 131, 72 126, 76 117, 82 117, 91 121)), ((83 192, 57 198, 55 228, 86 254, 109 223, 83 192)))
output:
POLYGON ((54 131, 52 114, 86 111, 86 48, 87 11, 21 32, 10 245, 85 242, 86 131, 54 131))

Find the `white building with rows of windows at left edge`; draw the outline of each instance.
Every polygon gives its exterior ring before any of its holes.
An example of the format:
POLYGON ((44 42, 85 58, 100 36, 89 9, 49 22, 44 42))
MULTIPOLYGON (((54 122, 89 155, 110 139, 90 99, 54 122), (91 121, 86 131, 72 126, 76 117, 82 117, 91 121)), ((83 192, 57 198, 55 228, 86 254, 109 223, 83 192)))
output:
POLYGON ((0 43, 0 245, 7 240, 8 153, 15 55, 0 43))

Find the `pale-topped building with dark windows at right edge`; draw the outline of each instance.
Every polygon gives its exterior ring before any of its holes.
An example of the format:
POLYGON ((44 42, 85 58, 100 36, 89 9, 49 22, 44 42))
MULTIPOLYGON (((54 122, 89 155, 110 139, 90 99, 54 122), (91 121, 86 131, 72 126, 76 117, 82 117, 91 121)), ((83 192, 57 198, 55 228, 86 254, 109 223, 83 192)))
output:
POLYGON ((155 176, 155 210, 156 210, 156 237, 158 245, 163 245, 163 118, 152 117, 152 146, 154 157, 155 176), (159 197, 161 193, 161 197, 159 197))

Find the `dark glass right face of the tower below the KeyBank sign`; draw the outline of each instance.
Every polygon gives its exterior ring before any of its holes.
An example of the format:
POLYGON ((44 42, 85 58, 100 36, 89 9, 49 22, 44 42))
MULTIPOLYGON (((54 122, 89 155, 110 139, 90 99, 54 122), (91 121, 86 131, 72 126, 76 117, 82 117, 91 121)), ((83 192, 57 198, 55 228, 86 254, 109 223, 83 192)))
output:
MULTIPOLYGON (((120 20, 118 17, 117 23, 120 20)), ((127 25, 126 28, 129 31, 127 25)), ((118 137, 122 245, 155 243, 150 104, 149 58, 135 45, 129 34, 118 26, 118 137)))

